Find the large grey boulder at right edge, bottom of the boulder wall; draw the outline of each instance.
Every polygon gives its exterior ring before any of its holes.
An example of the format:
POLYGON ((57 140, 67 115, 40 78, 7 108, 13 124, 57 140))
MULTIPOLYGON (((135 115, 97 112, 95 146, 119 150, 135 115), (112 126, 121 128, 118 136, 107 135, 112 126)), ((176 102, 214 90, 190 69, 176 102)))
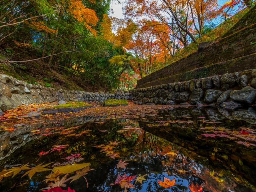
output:
POLYGON ((256 99, 256 89, 247 86, 241 90, 232 91, 230 93, 230 98, 238 102, 252 104, 256 99))

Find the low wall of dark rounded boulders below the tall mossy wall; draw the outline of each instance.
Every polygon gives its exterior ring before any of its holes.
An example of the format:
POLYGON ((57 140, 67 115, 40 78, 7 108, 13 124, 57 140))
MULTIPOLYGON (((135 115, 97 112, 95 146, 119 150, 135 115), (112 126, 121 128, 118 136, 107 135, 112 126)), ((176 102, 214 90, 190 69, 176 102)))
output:
POLYGON ((256 70, 132 90, 137 104, 239 106, 256 102, 256 70))

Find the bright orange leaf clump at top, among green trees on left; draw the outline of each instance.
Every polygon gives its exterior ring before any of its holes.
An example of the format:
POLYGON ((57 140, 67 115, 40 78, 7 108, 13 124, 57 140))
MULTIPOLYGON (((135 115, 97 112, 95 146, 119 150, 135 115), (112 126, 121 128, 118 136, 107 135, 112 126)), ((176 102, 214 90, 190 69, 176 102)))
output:
POLYGON ((95 26, 99 19, 94 10, 86 8, 81 0, 70 0, 68 10, 78 22, 83 23, 96 36, 97 31, 92 26, 95 26))

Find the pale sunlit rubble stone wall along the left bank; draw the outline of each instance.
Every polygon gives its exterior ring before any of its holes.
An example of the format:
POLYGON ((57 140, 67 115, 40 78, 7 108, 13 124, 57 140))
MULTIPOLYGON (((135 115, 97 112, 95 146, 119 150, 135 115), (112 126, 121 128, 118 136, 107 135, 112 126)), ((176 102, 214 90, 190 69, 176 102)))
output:
POLYGON ((47 88, 17 80, 12 76, 0 74, 0 114, 22 104, 65 101, 104 101, 109 98, 130 99, 127 92, 104 93, 84 92, 47 88))

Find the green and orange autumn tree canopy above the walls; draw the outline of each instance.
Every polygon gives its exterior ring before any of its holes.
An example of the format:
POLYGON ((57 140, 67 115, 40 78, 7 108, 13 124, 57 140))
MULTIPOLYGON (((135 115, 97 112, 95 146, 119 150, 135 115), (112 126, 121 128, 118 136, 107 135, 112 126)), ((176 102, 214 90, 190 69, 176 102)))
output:
MULTIPOLYGON (((79 84, 127 90, 138 78, 196 50, 220 22, 255 2, 127 0, 124 19, 110 16, 110 4, 111 0, 2 0, 1 52, 8 54, 12 67, 26 63, 34 70, 40 61, 46 71, 75 77, 79 84)), ((210 38, 216 37, 212 33, 210 38)))

